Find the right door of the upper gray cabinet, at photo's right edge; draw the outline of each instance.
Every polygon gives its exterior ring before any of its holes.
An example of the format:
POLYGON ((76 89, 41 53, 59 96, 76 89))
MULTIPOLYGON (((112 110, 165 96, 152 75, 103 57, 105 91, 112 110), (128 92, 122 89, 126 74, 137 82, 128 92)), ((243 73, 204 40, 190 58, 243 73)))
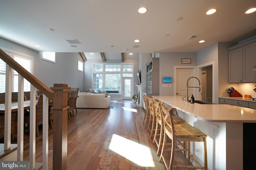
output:
POLYGON ((243 47, 243 82, 256 82, 256 71, 252 71, 256 63, 256 43, 243 47))

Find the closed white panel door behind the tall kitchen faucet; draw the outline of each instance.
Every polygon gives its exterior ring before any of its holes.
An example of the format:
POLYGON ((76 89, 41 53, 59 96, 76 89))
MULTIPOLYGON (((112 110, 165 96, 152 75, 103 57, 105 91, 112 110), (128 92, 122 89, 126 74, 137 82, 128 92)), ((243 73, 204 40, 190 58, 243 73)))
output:
MULTIPOLYGON (((186 96, 186 84, 188 78, 194 76, 195 68, 176 68, 176 95, 186 96)), ((188 82, 188 86, 194 86, 195 78, 192 78, 188 82)), ((197 81, 197 80, 196 80, 197 81)), ((195 88, 188 88, 188 96, 195 94, 195 88)), ((196 97, 195 97, 196 98, 196 97)))

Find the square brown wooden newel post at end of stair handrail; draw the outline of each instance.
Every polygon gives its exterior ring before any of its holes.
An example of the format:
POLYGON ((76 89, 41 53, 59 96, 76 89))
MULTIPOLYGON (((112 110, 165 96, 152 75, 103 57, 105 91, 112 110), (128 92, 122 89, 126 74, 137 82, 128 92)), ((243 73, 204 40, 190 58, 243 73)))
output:
POLYGON ((68 84, 54 84, 53 91, 53 169, 67 169, 68 84))

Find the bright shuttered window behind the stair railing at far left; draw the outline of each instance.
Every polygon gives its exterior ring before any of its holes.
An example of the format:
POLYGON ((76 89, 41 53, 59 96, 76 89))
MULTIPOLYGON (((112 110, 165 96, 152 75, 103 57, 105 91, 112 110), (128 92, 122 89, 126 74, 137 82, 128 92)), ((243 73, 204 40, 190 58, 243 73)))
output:
MULTIPOLYGON (((28 72, 32 71, 32 58, 23 57, 20 55, 8 53, 12 56, 17 63, 23 66, 28 72)), ((12 92, 18 92, 18 72, 13 70, 12 73, 12 92)), ((5 92, 5 80, 6 80, 6 63, 0 59, 0 93, 5 92)), ((24 92, 30 91, 30 82, 24 79, 24 92)))

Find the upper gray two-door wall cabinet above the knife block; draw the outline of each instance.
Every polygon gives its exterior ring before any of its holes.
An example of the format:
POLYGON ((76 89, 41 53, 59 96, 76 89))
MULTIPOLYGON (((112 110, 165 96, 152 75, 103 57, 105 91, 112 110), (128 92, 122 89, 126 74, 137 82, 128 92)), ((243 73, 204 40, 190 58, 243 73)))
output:
MULTIPOLYGON (((254 41, 256 41, 254 39, 254 41)), ((248 41, 228 48, 229 83, 256 82, 256 42, 248 41)))

